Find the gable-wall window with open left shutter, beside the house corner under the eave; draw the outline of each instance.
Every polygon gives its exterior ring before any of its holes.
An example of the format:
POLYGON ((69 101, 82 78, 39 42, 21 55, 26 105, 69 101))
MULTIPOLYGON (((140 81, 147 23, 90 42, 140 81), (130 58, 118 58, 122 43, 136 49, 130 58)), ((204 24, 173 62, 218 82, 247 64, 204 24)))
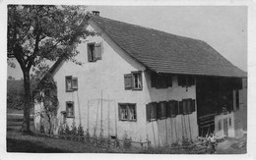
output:
POLYGON ((125 90, 142 90, 142 72, 124 75, 124 88, 125 90))

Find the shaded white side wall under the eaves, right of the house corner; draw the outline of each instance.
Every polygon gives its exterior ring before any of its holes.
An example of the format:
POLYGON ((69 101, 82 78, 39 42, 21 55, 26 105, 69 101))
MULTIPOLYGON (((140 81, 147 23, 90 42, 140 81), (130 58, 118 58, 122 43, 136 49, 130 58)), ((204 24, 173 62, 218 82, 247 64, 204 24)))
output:
MULTIPOLYGON (((146 104, 166 100, 178 100, 192 98, 196 99, 196 87, 178 86, 177 76, 172 77, 172 86, 163 89, 151 87, 151 76, 146 72, 148 85, 146 89, 146 104)), ((196 109, 197 110, 197 109, 196 109)), ((146 109, 145 109, 146 113, 146 109)), ((146 123, 146 133, 153 145, 165 145, 173 142, 180 142, 182 136, 188 139, 195 139, 198 136, 197 114, 178 115, 175 118, 167 118, 155 122, 146 123)))

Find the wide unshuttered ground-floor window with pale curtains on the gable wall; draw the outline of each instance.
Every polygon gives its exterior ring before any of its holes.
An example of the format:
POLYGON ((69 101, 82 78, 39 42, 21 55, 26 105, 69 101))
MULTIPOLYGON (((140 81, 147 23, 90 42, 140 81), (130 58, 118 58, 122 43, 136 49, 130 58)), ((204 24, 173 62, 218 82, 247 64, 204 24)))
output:
POLYGON ((136 104, 134 103, 119 103, 119 120, 120 121, 136 121, 136 104))

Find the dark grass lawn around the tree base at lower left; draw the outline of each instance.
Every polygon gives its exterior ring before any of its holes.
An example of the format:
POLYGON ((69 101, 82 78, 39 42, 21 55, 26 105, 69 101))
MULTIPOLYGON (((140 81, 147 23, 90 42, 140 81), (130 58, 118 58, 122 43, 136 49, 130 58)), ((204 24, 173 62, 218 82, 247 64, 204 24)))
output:
MULTIPOLYGON (((23 119, 8 116, 7 118, 7 151, 8 152, 35 152, 35 153, 104 153, 109 151, 96 148, 93 145, 56 139, 50 137, 34 136, 20 132, 23 119)), ((33 123, 31 122, 33 130, 33 123)))

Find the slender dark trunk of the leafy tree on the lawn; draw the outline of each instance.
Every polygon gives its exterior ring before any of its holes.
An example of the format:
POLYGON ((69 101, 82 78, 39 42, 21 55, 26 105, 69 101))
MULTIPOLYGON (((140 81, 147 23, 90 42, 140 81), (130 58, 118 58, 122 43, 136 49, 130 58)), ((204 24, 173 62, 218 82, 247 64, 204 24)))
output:
POLYGON ((31 82, 30 82, 30 70, 24 70, 24 88, 25 88, 25 104, 24 104, 24 121, 22 126, 22 132, 31 133, 30 120, 31 120, 31 82))

